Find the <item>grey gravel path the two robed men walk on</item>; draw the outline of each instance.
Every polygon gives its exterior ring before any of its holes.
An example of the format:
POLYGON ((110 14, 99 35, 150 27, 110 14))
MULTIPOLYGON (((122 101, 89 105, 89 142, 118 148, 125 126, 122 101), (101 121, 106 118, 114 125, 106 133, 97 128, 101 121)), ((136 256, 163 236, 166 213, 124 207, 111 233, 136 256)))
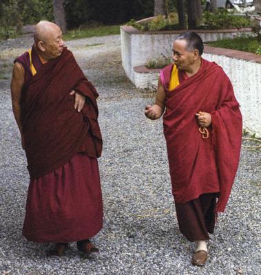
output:
POLYGON ((12 60, 31 41, 8 43, 0 45, 0 275, 261 274, 260 152, 242 149, 227 211, 209 242, 209 261, 192 266, 194 245, 182 237, 175 217, 162 121, 143 115, 154 94, 139 91, 125 77, 119 36, 67 43, 100 94, 105 217, 94 242, 101 254, 87 259, 72 243, 65 256, 48 257, 49 244, 26 241, 21 227, 28 172, 9 86, 12 60))

